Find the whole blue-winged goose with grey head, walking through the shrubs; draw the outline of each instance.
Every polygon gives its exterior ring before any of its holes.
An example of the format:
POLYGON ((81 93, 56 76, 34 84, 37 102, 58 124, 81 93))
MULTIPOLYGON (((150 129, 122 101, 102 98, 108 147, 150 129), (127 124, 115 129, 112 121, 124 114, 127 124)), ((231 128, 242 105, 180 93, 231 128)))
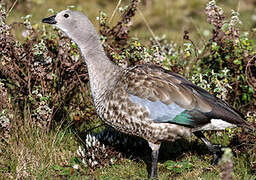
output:
POLYGON ((179 74, 154 65, 121 68, 112 63, 93 24, 82 13, 64 10, 42 21, 60 28, 80 48, 99 117, 119 131, 148 141, 151 178, 157 177, 161 142, 195 134, 216 163, 220 146, 212 145, 201 130, 248 126, 241 113, 179 74))

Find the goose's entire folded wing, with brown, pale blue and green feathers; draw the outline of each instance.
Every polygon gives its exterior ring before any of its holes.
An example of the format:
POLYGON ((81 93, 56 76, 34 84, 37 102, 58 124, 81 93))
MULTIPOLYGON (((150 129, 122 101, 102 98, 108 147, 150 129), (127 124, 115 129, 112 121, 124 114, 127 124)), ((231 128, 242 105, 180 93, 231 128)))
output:
POLYGON ((140 65, 127 70, 130 101, 147 109, 156 123, 198 127, 211 119, 236 125, 246 122, 241 113, 183 76, 158 66, 140 65))

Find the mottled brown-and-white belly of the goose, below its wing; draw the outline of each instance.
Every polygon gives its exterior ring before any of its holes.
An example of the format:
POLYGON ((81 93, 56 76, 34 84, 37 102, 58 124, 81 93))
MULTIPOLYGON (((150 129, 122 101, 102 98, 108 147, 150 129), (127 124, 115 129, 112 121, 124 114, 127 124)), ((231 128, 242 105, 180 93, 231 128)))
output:
POLYGON ((103 108, 99 114, 106 124, 118 131, 142 137, 152 143, 191 136, 191 128, 171 123, 155 123, 144 109, 138 110, 136 106, 123 109, 120 104, 116 106, 113 108, 106 106, 108 109, 103 108))

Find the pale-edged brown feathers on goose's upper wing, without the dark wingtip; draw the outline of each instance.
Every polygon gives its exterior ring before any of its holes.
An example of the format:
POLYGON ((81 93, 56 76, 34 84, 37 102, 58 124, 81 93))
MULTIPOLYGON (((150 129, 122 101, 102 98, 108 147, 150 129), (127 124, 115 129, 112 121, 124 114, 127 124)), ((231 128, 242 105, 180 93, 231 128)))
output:
POLYGON ((210 105, 186 88, 180 79, 164 71, 159 71, 158 68, 137 66, 128 71, 126 78, 129 82, 128 92, 140 98, 161 101, 167 105, 175 102, 187 110, 198 107, 203 112, 211 111, 210 105))

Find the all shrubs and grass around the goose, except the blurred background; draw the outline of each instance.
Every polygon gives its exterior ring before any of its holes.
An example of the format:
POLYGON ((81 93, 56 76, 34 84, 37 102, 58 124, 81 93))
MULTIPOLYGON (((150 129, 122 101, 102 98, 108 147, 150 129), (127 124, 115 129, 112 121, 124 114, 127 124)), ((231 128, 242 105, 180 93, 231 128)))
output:
MULTIPOLYGON (((210 1, 205 9, 212 25, 208 41, 195 43, 185 31, 184 45, 178 46, 165 36, 147 43, 130 37, 138 5, 133 0, 119 8, 121 18, 114 26, 100 12, 99 32, 108 57, 124 67, 151 63, 178 72, 240 110, 256 128, 255 34, 240 31, 239 13, 225 17, 210 1)), ((7 24, 3 2, 0 15, 1 178, 145 178, 145 163, 150 162, 145 141, 113 129, 91 129, 101 122, 77 45, 58 29, 31 24, 31 16, 7 24), (24 42, 13 33, 20 27, 25 28, 24 42)), ((255 178, 255 135, 240 128, 209 132, 213 143, 231 147, 236 155, 227 151, 227 161, 217 167, 209 165, 209 154, 195 140, 166 143, 160 178, 255 178)))

